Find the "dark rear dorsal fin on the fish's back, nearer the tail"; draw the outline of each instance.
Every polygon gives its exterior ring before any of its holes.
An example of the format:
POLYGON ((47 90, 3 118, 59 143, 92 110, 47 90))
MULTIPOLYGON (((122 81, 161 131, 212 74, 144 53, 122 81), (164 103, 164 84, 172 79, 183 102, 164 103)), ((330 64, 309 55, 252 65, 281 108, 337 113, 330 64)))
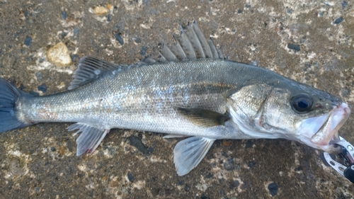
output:
POLYGON ((68 89, 76 89, 93 79, 97 79, 102 74, 105 74, 105 72, 119 71, 121 68, 122 66, 120 65, 105 62, 93 57, 82 57, 72 76, 73 79, 68 89))

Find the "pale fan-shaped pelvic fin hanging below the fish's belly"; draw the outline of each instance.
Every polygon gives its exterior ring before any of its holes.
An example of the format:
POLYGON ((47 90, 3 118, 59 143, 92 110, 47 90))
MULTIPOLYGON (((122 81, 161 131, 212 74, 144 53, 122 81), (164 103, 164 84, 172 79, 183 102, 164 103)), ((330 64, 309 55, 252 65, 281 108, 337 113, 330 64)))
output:
POLYGON ((178 142, 173 150, 173 162, 178 176, 184 176, 195 166, 198 166, 214 141, 214 139, 206 137, 188 137, 178 142))

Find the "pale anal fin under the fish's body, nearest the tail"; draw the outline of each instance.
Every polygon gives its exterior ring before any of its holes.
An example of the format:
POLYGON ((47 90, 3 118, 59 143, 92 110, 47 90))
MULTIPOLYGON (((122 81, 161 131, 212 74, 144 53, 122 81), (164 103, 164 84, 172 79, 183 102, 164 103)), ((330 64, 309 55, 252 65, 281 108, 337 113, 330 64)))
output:
POLYGON ((76 133, 81 132, 81 135, 76 139, 76 156, 80 156, 81 154, 93 154, 105 135, 110 131, 109 129, 101 129, 84 123, 70 125, 67 129, 79 129, 76 133))

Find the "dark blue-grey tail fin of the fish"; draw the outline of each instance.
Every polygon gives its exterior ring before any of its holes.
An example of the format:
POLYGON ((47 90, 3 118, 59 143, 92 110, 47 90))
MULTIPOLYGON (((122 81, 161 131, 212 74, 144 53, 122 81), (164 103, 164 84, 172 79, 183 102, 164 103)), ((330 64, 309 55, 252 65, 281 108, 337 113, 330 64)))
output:
POLYGON ((23 96, 30 95, 0 78, 0 132, 28 126, 16 118, 16 101, 23 96))

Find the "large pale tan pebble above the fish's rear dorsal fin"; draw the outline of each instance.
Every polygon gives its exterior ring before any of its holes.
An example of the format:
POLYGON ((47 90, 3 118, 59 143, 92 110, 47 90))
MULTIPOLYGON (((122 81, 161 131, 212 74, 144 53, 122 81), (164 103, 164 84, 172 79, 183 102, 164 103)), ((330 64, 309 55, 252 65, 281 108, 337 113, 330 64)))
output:
POLYGON ((72 64, 69 50, 63 42, 58 42, 47 50, 47 59, 57 67, 67 67, 72 64))

